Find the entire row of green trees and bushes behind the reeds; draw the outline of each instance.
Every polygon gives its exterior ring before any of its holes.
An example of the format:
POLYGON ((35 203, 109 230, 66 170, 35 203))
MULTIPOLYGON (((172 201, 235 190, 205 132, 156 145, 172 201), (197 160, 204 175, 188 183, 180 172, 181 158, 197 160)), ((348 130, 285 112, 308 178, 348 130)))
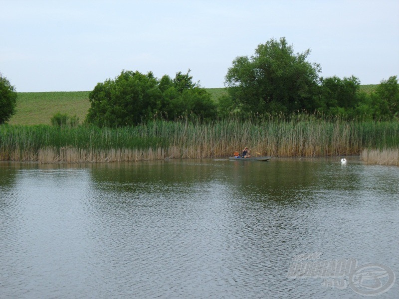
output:
MULTIPOLYGON (((161 79, 152 72, 123 70, 115 79, 98 83, 89 94, 86 122, 98 126, 131 126, 154 117, 176 120, 254 115, 320 113, 345 119, 399 118, 398 77, 382 80, 374 92, 360 92, 355 76, 321 77, 321 66, 310 63, 310 49, 295 53, 284 37, 259 44, 251 56, 238 56, 225 76, 227 93, 212 101, 193 82, 190 70, 161 79)), ((16 93, 0 74, 0 124, 12 115, 16 93)))

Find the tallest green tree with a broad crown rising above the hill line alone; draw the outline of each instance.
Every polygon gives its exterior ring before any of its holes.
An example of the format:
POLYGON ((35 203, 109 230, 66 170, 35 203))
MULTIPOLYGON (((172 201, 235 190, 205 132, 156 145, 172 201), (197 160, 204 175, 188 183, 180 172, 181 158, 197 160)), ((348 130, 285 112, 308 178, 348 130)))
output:
POLYGON ((243 113, 291 113, 318 107, 321 68, 307 61, 310 50, 294 54, 284 37, 259 44, 251 57, 239 56, 225 76, 234 105, 243 113))

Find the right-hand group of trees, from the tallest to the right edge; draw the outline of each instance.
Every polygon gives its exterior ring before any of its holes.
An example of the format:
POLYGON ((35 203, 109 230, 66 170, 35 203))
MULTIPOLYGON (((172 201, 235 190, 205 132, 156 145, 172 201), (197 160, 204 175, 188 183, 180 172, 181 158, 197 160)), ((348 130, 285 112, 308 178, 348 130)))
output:
POLYGON ((381 81, 375 92, 360 92, 355 76, 320 77, 321 66, 310 63, 310 50, 294 53, 286 39, 260 44, 254 55, 239 56, 228 69, 228 96, 219 100, 224 115, 315 113, 347 119, 399 117, 397 76, 381 81))

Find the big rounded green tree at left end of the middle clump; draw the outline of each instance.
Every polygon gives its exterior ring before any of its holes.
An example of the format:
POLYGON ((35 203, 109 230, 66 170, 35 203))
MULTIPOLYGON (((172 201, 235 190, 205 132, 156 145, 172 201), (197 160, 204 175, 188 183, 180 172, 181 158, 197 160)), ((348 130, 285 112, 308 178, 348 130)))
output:
POLYGON ((131 126, 157 112, 162 97, 152 72, 122 71, 115 80, 98 83, 89 94, 91 107, 86 121, 99 126, 131 126))

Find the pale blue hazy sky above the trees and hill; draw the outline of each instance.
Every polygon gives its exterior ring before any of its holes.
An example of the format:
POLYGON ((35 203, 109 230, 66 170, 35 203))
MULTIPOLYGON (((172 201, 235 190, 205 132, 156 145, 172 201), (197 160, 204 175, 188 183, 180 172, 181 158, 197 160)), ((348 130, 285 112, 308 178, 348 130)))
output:
POLYGON ((285 37, 323 77, 399 76, 399 0, 0 0, 0 73, 17 92, 90 91, 122 70, 191 69, 224 87, 237 56, 285 37))

